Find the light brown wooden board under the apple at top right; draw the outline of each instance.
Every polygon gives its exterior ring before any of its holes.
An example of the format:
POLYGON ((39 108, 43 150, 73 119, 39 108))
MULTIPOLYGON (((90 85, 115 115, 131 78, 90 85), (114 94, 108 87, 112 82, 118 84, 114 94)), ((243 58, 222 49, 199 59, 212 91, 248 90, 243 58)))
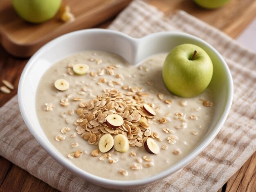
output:
POLYGON ((184 10, 227 33, 232 38, 238 37, 256 17, 255 0, 231 0, 219 9, 203 9, 192 0, 146 0, 146 2, 153 4, 166 15, 177 9, 184 10))

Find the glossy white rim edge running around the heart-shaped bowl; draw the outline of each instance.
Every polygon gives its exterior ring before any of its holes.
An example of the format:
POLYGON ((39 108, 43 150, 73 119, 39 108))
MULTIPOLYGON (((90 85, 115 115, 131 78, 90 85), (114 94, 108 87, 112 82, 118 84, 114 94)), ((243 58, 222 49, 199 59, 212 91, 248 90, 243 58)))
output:
POLYGON ((232 100, 233 100, 233 92, 234 92, 233 89, 234 89, 234 87, 233 87, 233 80, 232 80, 231 72, 229 71, 228 65, 225 62, 225 60, 222 58, 220 53, 218 53, 218 51, 216 51, 216 49, 214 49, 211 45, 209 45, 209 43, 205 42, 204 40, 202 40, 196 36, 190 35, 188 33, 183 33, 183 32, 166 31, 166 32, 152 33, 152 34, 149 34, 142 38, 132 38, 132 37, 126 35, 125 33, 122 33, 119 31, 112 31, 110 29, 83 29, 83 30, 79 30, 79 31, 66 33, 62 36, 59 36, 58 38, 51 40, 50 42, 45 44, 43 47, 38 49, 38 51, 36 51, 36 53, 29 59, 29 61, 27 62, 26 66, 23 69, 22 74, 20 76, 20 81, 19 81, 19 85, 18 85, 18 104, 19 104, 20 113, 22 115, 22 118, 23 118, 25 124, 27 125, 29 131, 31 132, 31 134, 34 136, 34 138, 36 138, 38 143, 40 143, 40 145, 47 151, 47 153, 50 154, 58 163, 60 163, 61 165, 63 165, 65 168, 67 168, 71 172, 75 173, 76 175, 79 175, 80 177, 82 177, 83 179, 85 179, 91 183, 109 187, 109 188, 111 188, 111 187, 113 187, 113 188, 124 187, 125 188, 125 187, 131 187, 131 186, 136 187, 136 186, 141 186, 141 185, 147 185, 149 183, 158 181, 159 179, 163 179, 163 178, 169 176, 170 174, 176 172, 181 167, 183 167, 184 165, 189 163, 196 156, 198 156, 198 154, 200 152, 202 152, 202 150, 204 150, 204 148, 206 148, 209 145, 209 143, 213 140, 213 138, 215 138, 215 136, 220 131, 222 125, 225 123, 225 120, 227 118, 227 115, 229 114, 229 110, 231 108, 231 104, 232 104, 232 100), (22 94, 22 87, 25 84, 25 78, 27 76, 29 69, 31 68, 33 63, 37 60, 37 58, 40 56, 40 54, 43 53, 45 50, 49 49, 52 45, 58 43, 59 41, 61 41, 63 39, 70 38, 72 36, 77 36, 81 33, 90 33, 90 32, 91 33, 96 33, 96 32, 112 33, 117 36, 122 36, 124 38, 127 38, 131 41, 142 40, 142 39, 148 38, 150 36, 161 36, 164 34, 173 35, 173 36, 184 36, 186 38, 192 38, 193 40, 196 40, 196 41, 202 43, 203 45, 209 47, 209 49, 211 49, 211 51, 213 51, 214 54, 216 54, 216 56, 220 59, 222 65, 223 65, 225 75, 228 80, 228 82, 227 82, 228 90, 227 90, 227 98, 226 98, 226 102, 225 102, 226 103, 225 109, 222 112, 222 115, 221 115, 219 121, 216 123, 216 126, 209 133, 209 135, 207 137, 205 137, 203 140, 201 140, 200 143, 189 154, 187 154, 183 159, 181 159, 174 165, 168 167, 166 170, 159 172, 153 176, 146 177, 144 179, 138 179, 138 180, 120 180, 119 181, 119 180, 106 179, 106 178, 103 178, 100 176, 96 176, 94 174, 86 172, 85 170, 81 170, 79 167, 76 167, 70 161, 65 161, 65 156, 60 155, 58 153, 54 153, 54 151, 51 149, 51 147, 43 140, 43 138, 40 137, 40 135, 33 128, 33 125, 29 120, 29 116, 26 113, 26 107, 23 103, 24 98, 23 98, 23 94, 22 94))

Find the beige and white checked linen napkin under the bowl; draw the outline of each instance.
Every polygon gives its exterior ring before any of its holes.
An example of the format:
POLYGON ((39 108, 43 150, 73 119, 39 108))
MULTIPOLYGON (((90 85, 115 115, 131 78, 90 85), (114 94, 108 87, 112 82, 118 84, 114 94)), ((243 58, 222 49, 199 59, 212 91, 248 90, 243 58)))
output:
MULTIPOLYGON (((182 169, 131 191, 217 191, 256 151, 256 54, 219 30, 178 11, 164 16, 155 7, 132 2, 109 27, 133 37, 183 31, 209 42, 225 58, 234 78, 234 102, 216 138, 182 169)), ((84 181, 58 164, 34 139, 19 112, 17 96, 0 109, 0 155, 61 191, 112 191, 84 181)))

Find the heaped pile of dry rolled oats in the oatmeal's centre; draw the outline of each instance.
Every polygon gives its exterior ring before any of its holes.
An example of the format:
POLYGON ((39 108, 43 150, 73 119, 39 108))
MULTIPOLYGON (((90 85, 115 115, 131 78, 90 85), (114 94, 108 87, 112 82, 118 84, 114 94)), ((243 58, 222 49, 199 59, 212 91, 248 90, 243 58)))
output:
MULTIPOLYGON (((144 92, 141 92, 142 87, 127 89, 144 95, 144 92)), ((148 136, 160 139, 157 132, 151 132, 148 118, 153 116, 143 112, 143 104, 139 103, 141 100, 135 99, 138 95, 127 93, 122 94, 117 89, 111 89, 94 99, 81 101, 80 108, 76 111, 79 118, 74 123, 77 133, 82 134, 82 138, 92 145, 98 144, 101 134, 126 134, 129 144, 137 147, 142 147, 148 136), (124 124, 118 129, 108 127, 106 116, 109 114, 120 114, 124 124)), ((153 121, 149 122, 153 124, 153 121)))

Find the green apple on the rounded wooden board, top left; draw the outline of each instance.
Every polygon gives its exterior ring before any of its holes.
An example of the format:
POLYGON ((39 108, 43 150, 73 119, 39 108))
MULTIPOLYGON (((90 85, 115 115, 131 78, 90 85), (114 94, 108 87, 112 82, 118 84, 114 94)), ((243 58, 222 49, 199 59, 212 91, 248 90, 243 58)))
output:
POLYGON ((62 0, 12 0, 18 15, 33 23, 44 22, 53 18, 61 6, 62 0))

